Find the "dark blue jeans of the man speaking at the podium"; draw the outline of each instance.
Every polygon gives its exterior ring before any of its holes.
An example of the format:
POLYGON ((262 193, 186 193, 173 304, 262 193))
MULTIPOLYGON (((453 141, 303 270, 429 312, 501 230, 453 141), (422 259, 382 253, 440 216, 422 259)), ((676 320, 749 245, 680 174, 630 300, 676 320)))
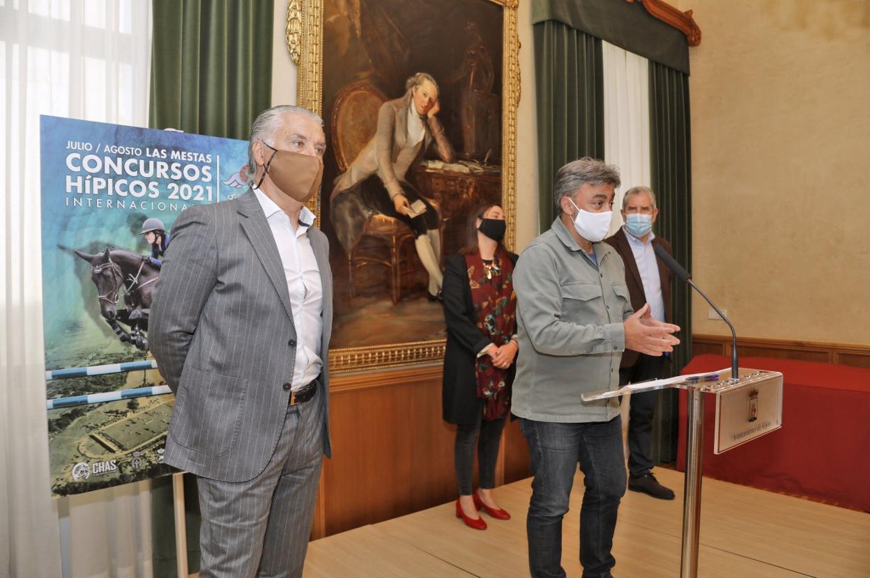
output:
POLYGON ((533 578, 565 576, 562 518, 579 462, 586 492, 580 508, 580 563, 584 578, 610 576, 610 553, 619 500, 626 493, 622 420, 555 423, 519 422, 532 454, 532 502, 525 530, 533 578))

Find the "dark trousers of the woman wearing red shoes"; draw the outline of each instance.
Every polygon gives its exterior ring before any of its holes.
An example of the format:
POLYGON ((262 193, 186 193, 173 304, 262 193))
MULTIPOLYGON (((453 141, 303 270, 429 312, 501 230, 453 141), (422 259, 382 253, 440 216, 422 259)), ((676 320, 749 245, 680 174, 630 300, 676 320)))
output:
POLYGON ((453 450, 459 495, 472 495, 475 446, 478 448, 478 485, 485 489, 491 489, 495 485, 495 462, 499 459, 499 441, 503 429, 504 417, 486 422, 482 413, 478 414, 477 423, 456 427, 456 444, 453 450))

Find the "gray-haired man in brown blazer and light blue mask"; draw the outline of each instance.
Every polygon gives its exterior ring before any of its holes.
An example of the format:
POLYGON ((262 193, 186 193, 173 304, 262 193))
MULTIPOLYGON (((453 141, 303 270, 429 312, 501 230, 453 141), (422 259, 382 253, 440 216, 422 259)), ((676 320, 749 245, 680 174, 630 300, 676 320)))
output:
MULTIPOLYGON (((654 253, 663 247, 672 253, 671 243, 653 234, 659 216, 655 194, 649 187, 633 187, 622 198, 622 219, 626 223, 606 239, 626 263, 626 284, 632 308, 637 311, 650 304, 651 315, 662 322, 671 319, 671 269, 654 253)), ((666 357, 653 357, 626 349, 619 363, 619 385, 645 382, 664 376, 666 357)), ((653 411, 658 391, 632 393, 628 421, 628 489, 644 492, 662 500, 673 500, 673 490, 662 486, 653 475, 650 443, 653 411)))

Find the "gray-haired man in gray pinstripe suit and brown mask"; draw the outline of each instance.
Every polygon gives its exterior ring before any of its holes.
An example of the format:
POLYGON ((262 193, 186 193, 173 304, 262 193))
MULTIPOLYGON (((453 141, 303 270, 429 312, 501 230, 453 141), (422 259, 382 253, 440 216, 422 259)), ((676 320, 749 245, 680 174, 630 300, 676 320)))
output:
POLYGON ((324 151, 319 116, 265 110, 251 189, 172 229, 149 337, 176 395, 165 461, 197 475, 201 577, 302 575, 330 455, 329 245, 304 204, 324 151))

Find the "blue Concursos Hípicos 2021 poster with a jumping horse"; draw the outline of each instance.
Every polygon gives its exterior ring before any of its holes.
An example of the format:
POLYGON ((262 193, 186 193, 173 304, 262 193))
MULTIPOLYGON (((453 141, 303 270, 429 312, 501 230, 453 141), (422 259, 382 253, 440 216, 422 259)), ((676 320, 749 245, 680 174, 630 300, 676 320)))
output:
POLYGON ((177 216, 247 189, 248 143, 55 116, 40 131, 52 493, 168 474, 151 298, 177 216))

